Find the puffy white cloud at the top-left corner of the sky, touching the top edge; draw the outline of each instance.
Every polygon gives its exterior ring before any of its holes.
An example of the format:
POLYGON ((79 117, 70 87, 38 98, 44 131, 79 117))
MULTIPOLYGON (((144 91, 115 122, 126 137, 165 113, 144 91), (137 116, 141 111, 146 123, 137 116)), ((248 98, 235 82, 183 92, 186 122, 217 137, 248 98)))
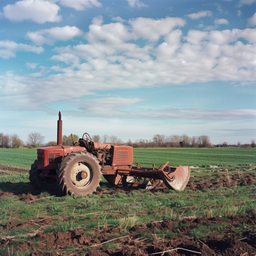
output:
POLYGON ((43 0, 23 0, 3 7, 4 17, 12 21, 32 20, 37 23, 59 22, 60 7, 43 0))

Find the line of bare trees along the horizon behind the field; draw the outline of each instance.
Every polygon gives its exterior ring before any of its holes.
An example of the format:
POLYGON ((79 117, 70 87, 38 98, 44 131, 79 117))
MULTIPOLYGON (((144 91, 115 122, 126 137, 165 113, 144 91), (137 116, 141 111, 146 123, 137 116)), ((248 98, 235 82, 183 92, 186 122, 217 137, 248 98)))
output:
MULTIPOLYGON (((45 137, 39 132, 31 132, 27 137, 27 145, 32 146, 42 146, 45 137)), ((73 134, 73 139, 70 135, 62 136, 62 145, 70 146, 74 142, 79 140, 79 136, 73 134)), ((228 146, 236 146, 236 147, 256 147, 255 140, 251 140, 250 144, 241 144, 241 142, 237 142, 236 145, 228 145, 227 142, 223 142, 218 145, 213 145, 210 141, 210 137, 208 135, 200 135, 189 137, 186 133, 182 135, 169 135, 166 136, 164 134, 155 134, 153 140, 145 140, 145 139, 137 139, 132 142, 130 139, 127 142, 122 141, 115 135, 104 134, 93 135, 92 140, 94 142, 102 142, 102 143, 111 143, 111 144, 125 144, 127 146, 131 146, 133 148, 154 148, 154 147, 166 147, 166 148, 214 148, 214 147, 228 147, 228 146)), ((19 138, 17 134, 4 134, 0 133, 0 147, 1 148, 19 148, 24 145, 24 142, 19 138)), ((46 143, 46 146, 57 145, 57 141, 49 141, 46 143)))

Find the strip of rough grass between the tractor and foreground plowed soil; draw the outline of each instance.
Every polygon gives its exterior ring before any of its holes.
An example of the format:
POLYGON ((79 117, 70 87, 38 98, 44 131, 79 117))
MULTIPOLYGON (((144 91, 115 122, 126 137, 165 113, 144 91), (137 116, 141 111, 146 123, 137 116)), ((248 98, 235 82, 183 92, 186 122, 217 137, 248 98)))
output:
MULTIPOLYGON (((28 182, 28 174, 22 180, 28 182)), ((19 177, 17 181, 19 189, 13 191, 21 196, 19 193, 23 191, 20 191, 19 177)), ((32 187, 27 186, 31 191, 32 187)), ((5 187, 0 188, 4 191, 5 187)), ((14 188, 15 183, 12 183, 14 188)), ((45 230, 46 233, 64 232, 72 227, 85 227, 86 230, 113 227, 125 232, 141 223, 157 220, 177 221, 189 216, 212 218, 252 214, 256 208, 255 194, 255 186, 219 187, 200 191, 167 190, 166 194, 133 191, 116 195, 49 197, 31 204, 10 196, 0 199, 0 225, 11 220, 50 217, 54 223, 45 230)), ((47 196, 47 193, 41 195, 47 196)), ((7 233, 7 230, 0 230, 0 235, 7 233)))

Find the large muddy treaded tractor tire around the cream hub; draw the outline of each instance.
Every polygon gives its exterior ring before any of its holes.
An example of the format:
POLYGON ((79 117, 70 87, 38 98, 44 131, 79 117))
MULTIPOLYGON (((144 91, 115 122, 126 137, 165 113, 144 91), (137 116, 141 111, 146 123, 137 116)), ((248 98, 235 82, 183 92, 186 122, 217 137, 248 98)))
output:
MULTIPOLYGON (((89 195, 92 194, 99 187, 101 181, 100 175, 100 165, 97 157, 92 155, 89 152, 85 151, 75 151, 68 154, 65 158, 62 159, 59 172, 58 172, 58 184, 60 189, 65 195, 89 195), (88 174, 88 181, 85 180, 85 185, 79 184, 79 179, 77 178, 77 172, 74 172, 74 169, 77 165, 81 165, 81 169, 86 170, 88 174), (76 175, 76 176, 74 176, 76 175), (74 177, 76 177, 74 183, 74 177)), ((80 167, 79 167, 80 168, 80 167)), ((82 170, 78 170, 82 171, 82 170)), ((81 181, 83 182, 83 180, 81 181)))

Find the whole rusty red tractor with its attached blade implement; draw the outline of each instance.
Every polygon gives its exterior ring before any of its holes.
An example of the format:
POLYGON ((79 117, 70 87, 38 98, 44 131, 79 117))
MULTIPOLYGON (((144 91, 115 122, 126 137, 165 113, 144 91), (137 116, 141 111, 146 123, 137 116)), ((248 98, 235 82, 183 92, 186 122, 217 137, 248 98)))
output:
MULTIPOLYGON (((110 183, 127 186, 129 179, 163 180, 170 189, 183 190, 189 180, 189 166, 155 168, 133 167, 133 149, 110 143, 93 142, 84 133, 78 142, 62 146, 62 121, 59 112, 57 144, 37 149, 37 160, 31 165, 29 180, 37 190, 57 190, 66 195, 88 195, 99 186, 101 174, 110 183)), ((150 183, 151 181, 151 183, 150 183)))

